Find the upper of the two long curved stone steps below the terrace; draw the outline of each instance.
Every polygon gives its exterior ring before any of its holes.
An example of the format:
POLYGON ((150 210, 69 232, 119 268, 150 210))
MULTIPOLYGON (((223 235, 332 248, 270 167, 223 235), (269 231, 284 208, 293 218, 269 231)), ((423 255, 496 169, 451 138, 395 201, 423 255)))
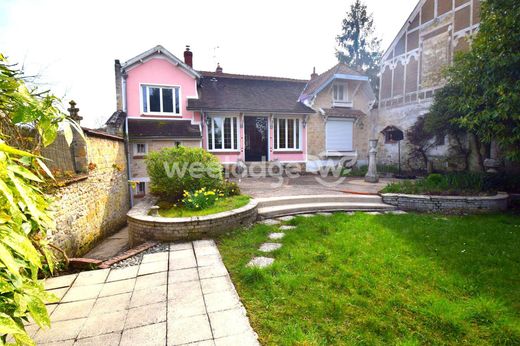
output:
POLYGON ((377 195, 301 195, 286 197, 257 198, 258 208, 286 206, 306 203, 383 203, 377 195))

